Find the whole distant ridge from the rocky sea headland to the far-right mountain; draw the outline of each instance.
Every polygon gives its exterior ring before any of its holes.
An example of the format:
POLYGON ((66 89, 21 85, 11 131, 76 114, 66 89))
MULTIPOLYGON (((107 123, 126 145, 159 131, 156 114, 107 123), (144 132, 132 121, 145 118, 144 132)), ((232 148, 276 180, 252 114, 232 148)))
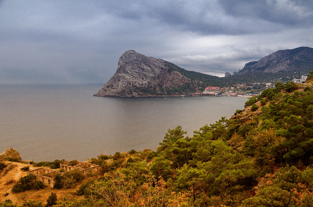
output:
POLYGON ((115 74, 94 96, 176 96, 202 92, 208 86, 287 81, 297 69, 306 75, 311 68, 313 48, 309 47, 276 51, 223 78, 188 71, 166 60, 128 50, 121 55, 115 74))

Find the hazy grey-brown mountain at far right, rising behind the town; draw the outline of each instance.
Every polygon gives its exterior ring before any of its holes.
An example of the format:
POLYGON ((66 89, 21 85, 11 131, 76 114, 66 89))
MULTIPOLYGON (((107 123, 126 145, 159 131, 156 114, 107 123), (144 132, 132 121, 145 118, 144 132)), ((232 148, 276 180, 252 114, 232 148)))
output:
POLYGON ((313 67, 313 48, 300 47, 295 49, 278 50, 259 61, 246 63, 238 71, 238 75, 253 72, 278 73, 300 69, 308 72, 313 67))

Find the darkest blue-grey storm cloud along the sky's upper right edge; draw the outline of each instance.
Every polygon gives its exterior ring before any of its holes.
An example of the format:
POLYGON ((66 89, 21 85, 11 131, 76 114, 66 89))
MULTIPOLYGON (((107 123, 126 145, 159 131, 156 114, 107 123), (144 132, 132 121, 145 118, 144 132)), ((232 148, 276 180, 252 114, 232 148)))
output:
POLYGON ((155 18, 201 34, 247 34, 311 26, 310 1, 112 1, 103 8, 121 18, 155 18))

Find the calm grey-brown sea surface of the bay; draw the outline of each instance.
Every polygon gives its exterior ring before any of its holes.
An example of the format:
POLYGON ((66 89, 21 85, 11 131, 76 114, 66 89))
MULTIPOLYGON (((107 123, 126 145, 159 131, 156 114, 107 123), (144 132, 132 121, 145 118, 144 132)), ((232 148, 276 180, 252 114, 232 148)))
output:
POLYGON ((0 153, 23 160, 86 161, 99 154, 156 150, 167 129, 189 136, 244 109, 241 97, 94 97, 103 84, 0 85, 0 153))

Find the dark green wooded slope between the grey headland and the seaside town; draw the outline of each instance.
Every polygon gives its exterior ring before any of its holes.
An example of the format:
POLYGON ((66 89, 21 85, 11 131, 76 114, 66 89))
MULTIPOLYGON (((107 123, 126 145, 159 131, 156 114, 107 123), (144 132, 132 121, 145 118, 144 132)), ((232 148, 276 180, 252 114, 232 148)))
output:
MULTIPOLYGON (((208 75, 204 73, 199 73, 195 71, 185 70, 175 65, 165 61, 164 66, 167 68, 167 71, 170 73, 172 71, 177 71, 184 75, 187 78, 191 79, 191 83, 184 83, 182 85, 168 88, 163 84, 158 84, 156 86, 150 86, 149 88, 135 87, 129 92, 136 92, 141 95, 183 95, 185 93, 195 93, 202 92, 208 86, 217 86, 217 87, 233 87, 236 85, 247 85, 254 86, 254 83, 275 83, 275 82, 287 82, 293 78, 299 78, 298 71, 294 72, 280 72, 280 73, 264 73, 264 72, 254 72, 246 73, 242 75, 232 75, 228 77, 217 77, 213 75, 208 75)), ((309 71, 301 71, 300 75, 306 75, 309 71)), ((250 90, 250 93, 259 93, 260 91, 266 89, 265 85, 263 88, 253 88, 250 90)))

